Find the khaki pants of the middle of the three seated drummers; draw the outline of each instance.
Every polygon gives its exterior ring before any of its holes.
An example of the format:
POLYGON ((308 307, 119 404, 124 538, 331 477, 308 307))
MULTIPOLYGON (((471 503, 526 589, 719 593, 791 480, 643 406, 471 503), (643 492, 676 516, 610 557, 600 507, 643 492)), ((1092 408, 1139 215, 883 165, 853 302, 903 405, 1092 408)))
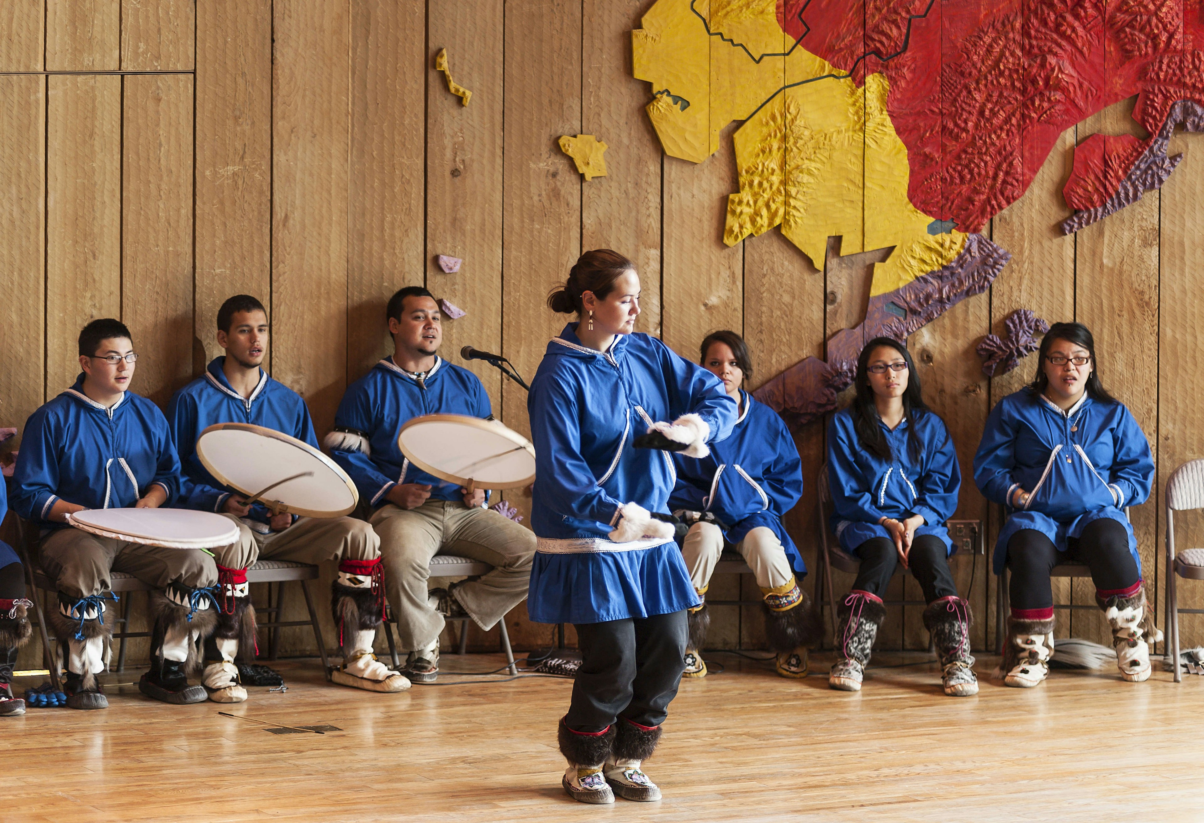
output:
POLYGON ((213 549, 218 565, 246 569, 262 558, 318 565, 325 560, 374 560, 380 557, 380 540, 372 527, 354 517, 302 517, 284 531, 260 534, 234 515, 238 542, 213 549))

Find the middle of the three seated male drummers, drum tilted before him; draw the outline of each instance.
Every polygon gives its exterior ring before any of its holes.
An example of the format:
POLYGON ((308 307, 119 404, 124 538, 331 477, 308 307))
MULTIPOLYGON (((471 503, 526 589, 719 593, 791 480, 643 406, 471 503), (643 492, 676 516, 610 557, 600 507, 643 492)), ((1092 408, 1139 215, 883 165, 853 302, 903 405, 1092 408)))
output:
POLYGON ((318 448, 305 400, 267 376, 267 312, 247 294, 218 310, 218 345, 224 357, 209 363, 202 377, 182 388, 167 406, 179 449, 183 509, 224 513, 238 523, 238 542, 218 552, 220 592, 218 628, 205 647, 205 687, 217 703, 241 703, 247 690, 238 682, 235 657, 253 654, 255 611, 250 605, 247 568, 258 558, 323 563, 338 559, 331 584, 331 607, 343 646, 343 665, 331 678, 370 692, 401 692, 409 682, 372 656, 376 627, 384 613, 380 584, 380 541, 372 527, 350 517, 296 518, 272 515, 261 504, 247 506, 238 494, 208 472, 196 453, 196 440, 214 423, 253 423, 302 440, 318 448))

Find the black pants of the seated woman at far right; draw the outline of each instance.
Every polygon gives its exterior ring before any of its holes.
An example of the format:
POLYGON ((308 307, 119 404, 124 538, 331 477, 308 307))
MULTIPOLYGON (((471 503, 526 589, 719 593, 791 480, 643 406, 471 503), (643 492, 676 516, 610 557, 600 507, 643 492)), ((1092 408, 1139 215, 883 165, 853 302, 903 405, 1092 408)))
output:
POLYGON ((1079 535, 1067 540, 1060 552, 1054 541, 1035 529, 1021 529, 1008 540, 1008 595, 1013 609, 1052 609, 1050 571, 1058 563, 1085 563, 1096 588, 1109 592, 1131 588, 1141 578, 1137 560, 1128 551, 1128 531, 1117 521, 1092 521, 1079 535))

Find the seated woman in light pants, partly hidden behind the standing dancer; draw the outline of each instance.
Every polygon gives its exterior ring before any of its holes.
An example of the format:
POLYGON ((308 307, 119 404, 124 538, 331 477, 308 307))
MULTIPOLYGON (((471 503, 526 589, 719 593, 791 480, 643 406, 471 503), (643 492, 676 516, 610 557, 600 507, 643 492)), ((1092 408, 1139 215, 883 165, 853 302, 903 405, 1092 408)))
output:
MULTIPOLYGON (((781 518, 803 494, 798 449, 777 412, 740 387, 752 376, 748 345, 734 331, 713 331, 700 347, 702 368, 724 381, 727 396, 739 404, 732 435, 701 460, 674 457, 678 484, 669 505, 685 510, 690 525, 681 554, 698 599, 704 600, 710 575, 724 551, 736 546, 756 576, 765 604, 765 630, 777 652, 783 677, 805 677, 809 647, 824 633, 824 621, 798 587, 807 574, 781 518), (704 518, 712 515, 714 519, 704 518)), ((707 605, 690 610, 685 676, 704 677, 702 643, 710 617, 707 605)))

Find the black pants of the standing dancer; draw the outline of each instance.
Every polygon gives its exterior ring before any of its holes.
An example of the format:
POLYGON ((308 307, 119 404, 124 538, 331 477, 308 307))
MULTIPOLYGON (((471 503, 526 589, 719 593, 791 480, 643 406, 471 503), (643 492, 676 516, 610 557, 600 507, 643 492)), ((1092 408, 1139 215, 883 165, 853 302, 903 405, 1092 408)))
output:
POLYGON ((582 668, 565 725, 602 731, 619 717, 639 725, 663 723, 685 671, 685 611, 574 628, 582 668))

